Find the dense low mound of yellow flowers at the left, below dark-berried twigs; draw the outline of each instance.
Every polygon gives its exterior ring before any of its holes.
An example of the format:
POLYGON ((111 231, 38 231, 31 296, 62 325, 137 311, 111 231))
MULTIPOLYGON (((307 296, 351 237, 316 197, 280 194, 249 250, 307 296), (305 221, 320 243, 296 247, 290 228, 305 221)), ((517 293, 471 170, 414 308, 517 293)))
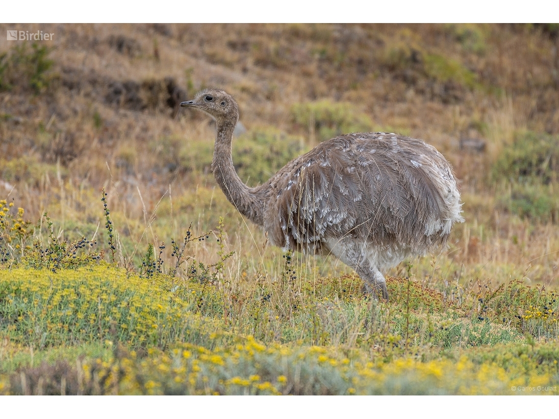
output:
POLYGON ((36 346, 107 337, 130 347, 164 346, 191 333, 221 331, 219 322, 193 313, 188 301, 105 264, 57 273, 0 270, 0 289, 8 336, 36 346))

